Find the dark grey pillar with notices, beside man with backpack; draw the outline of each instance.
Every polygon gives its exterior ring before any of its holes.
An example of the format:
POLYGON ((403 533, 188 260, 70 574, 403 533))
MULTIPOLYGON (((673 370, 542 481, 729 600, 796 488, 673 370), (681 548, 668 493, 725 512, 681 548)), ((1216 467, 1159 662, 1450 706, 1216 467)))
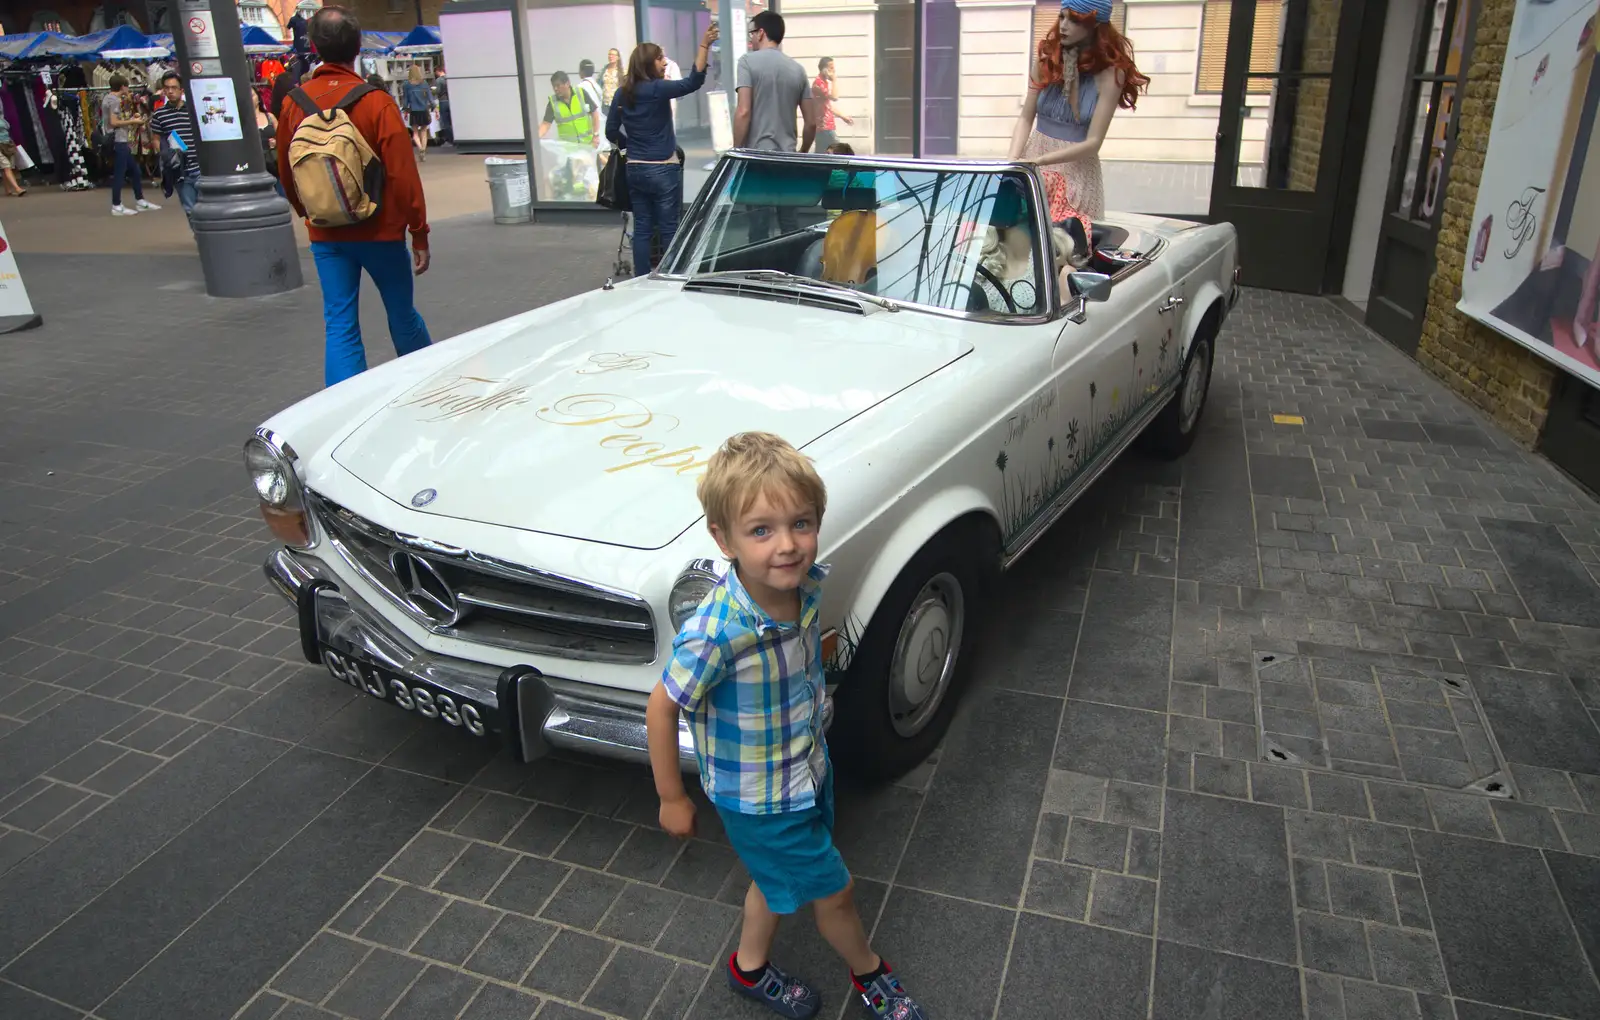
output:
POLYGON ((206 294, 291 291, 302 283, 293 211, 262 166, 234 0, 174 0, 171 22, 178 70, 197 122, 200 200, 190 222, 206 294))

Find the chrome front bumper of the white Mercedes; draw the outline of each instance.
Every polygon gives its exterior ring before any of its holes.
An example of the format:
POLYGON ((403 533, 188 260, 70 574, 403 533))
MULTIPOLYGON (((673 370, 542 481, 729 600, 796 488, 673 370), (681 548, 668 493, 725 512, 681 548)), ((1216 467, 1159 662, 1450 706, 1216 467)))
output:
MULTIPOLYGON (((542 758, 552 748, 650 761, 645 694, 547 676, 533 667, 501 668, 430 652, 346 592, 338 576, 309 553, 277 548, 264 569, 267 580, 296 608, 302 651, 310 662, 322 663, 315 636, 320 616, 322 628, 339 635, 342 651, 488 708, 490 729, 522 761, 542 758)), ((694 743, 682 718, 678 764, 686 772, 696 771, 694 743)))

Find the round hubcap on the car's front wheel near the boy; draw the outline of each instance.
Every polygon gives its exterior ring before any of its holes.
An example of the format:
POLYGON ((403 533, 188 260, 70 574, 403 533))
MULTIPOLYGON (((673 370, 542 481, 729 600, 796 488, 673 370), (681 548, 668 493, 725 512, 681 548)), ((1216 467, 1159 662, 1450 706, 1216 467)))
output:
POLYGON ((954 574, 938 574, 912 600, 890 663, 890 721, 915 737, 939 711, 962 652, 966 600, 954 574))

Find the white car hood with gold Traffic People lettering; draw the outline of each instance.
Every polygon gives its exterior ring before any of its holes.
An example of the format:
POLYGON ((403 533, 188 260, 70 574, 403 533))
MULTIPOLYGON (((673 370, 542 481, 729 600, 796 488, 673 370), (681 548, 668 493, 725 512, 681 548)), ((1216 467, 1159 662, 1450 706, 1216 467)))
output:
POLYGON ((856 317, 635 286, 462 357, 333 451, 424 513, 661 548, 731 433, 805 446, 971 350, 915 312, 856 317))

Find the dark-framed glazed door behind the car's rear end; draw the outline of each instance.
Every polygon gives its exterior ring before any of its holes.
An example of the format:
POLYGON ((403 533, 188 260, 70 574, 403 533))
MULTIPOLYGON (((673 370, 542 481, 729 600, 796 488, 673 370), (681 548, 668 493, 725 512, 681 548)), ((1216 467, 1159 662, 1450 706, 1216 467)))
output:
POLYGON ((1230 18, 1211 219, 1238 230, 1248 286, 1320 294, 1344 272, 1382 8, 1362 0, 1206 8, 1208 18, 1230 18))

